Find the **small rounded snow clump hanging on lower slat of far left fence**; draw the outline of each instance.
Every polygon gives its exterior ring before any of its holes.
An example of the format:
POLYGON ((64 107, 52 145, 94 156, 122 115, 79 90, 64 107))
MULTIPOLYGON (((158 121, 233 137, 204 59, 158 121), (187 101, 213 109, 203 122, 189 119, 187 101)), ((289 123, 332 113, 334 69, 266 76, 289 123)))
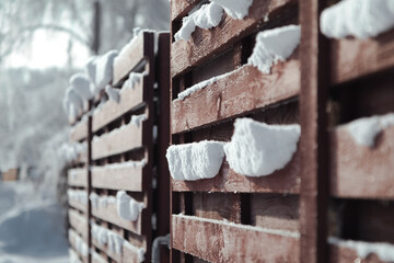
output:
POLYGON ((136 221, 143 209, 143 204, 135 201, 125 191, 116 193, 116 210, 118 216, 128 221, 136 221))

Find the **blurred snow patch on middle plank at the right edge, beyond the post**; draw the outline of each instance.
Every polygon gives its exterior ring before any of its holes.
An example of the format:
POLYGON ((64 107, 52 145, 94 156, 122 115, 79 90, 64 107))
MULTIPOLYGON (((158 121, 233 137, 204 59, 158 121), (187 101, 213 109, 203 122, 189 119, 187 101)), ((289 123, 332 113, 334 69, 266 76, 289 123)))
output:
POLYGON ((357 144, 373 147, 375 137, 385 128, 394 126, 394 113, 359 118, 346 125, 357 144))

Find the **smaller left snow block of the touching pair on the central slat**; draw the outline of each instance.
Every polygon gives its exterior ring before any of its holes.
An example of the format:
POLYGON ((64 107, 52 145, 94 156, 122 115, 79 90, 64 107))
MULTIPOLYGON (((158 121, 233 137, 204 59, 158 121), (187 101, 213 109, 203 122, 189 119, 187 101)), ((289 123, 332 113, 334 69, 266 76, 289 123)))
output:
POLYGON ((213 178, 224 158, 223 145, 220 141, 204 140, 170 146, 165 157, 171 176, 187 181, 213 178))

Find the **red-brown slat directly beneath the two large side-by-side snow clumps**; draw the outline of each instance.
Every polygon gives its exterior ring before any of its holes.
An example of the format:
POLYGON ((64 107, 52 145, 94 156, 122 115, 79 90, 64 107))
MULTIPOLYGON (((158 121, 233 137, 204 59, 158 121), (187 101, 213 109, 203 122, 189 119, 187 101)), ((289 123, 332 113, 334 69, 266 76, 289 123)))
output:
POLYGON ((299 152, 282 169, 268 176, 251 178, 235 173, 223 162, 213 179, 198 181, 172 180, 174 192, 239 192, 239 193, 292 193, 300 192, 299 152))

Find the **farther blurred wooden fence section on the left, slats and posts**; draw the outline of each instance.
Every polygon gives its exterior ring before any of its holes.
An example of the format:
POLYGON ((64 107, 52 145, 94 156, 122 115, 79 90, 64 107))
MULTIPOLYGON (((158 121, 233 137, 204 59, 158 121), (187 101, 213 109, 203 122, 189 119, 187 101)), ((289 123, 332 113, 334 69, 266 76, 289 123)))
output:
MULTIPOLYGON (((157 54, 154 38, 142 32, 123 49, 112 81, 119 100, 102 92, 90 101, 89 121, 76 124, 71 134, 72 140, 88 142, 88 161, 71 169, 68 181, 90 197, 85 204, 69 199, 70 242, 83 262, 150 262, 153 239, 170 231, 170 35, 158 34, 157 54), (139 205, 137 218, 119 211, 121 193, 139 205), (76 235, 89 247, 86 256, 74 245, 76 235)), ((161 256, 165 262, 169 250, 161 256)))

